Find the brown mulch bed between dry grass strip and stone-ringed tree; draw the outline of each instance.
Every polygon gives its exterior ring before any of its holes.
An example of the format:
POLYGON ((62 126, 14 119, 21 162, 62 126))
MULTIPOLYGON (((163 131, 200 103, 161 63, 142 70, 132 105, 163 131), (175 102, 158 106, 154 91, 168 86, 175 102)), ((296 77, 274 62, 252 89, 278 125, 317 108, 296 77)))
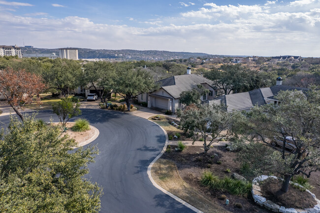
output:
MULTIPOLYGON (((172 145, 171 150, 174 150, 175 147, 172 145)), ((215 200, 225 210, 232 213, 271 213, 271 211, 257 206, 251 194, 247 197, 232 195, 228 192, 208 189, 200 184, 202 173, 206 170, 210 170, 220 178, 230 176, 232 173, 242 175, 240 173, 240 163, 234 161, 235 154, 227 151, 224 146, 212 147, 206 154, 201 146, 188 146, 182 152, 171 151, 164 153, 161 158, 175 162, 179 175, 184 181, 208 199, 215 200), (226 172, 226 169, 231 172, 226 172), (219 200, 221 195, 226 195, 230 201, 228 206, 225 205, 225 200, 219 200), (243 208, 235 208, 235 203, 241 203, 243 208)))

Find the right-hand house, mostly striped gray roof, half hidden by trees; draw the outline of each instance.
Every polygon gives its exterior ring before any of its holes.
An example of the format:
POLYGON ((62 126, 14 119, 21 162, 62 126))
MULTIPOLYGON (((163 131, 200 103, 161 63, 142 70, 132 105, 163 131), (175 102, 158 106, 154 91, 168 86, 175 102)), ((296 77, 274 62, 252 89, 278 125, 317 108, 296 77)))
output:
POLYGON ((278 77, 277 85, 275 86, 260 88, 249 92, 224 95, 211 100, 204 101, 202 103, 207 103, 210 105, 223 104, 224 106, 226 106, 227 112, 243 110, 249 111, 254 106, 262 106, 270 103, 277 104, 278 100, 275 98, 275 96, 280 91, 287 90, 298 90, 305 94, 309 89, 303 87, 282 85, 282 78, 278 77))

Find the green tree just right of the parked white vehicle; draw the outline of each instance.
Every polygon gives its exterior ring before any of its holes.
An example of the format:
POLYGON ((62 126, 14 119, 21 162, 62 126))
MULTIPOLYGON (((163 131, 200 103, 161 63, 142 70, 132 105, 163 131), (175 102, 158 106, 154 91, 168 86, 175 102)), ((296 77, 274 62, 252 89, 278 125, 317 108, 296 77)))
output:
POLYGON ((115 68, 110 62, 93 62, 84 65, 83 84, 94 87, 100 101, 110 96, 114 87, 115 68), (98 87, 98 88, 97 88, 98 87))

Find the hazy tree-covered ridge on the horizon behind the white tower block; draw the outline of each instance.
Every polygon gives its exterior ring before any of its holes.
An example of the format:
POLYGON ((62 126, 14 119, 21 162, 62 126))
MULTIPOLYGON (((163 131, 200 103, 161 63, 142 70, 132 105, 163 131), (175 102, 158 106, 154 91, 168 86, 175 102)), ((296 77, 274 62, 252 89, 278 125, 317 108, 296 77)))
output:
MULTIPOLYGON (((44 49, 44 48, 27 48, 21 47, 22 54, 40 54, 40 53, 56 53, 59 54, 59 49, 44 49)), ((213 57, 206 53, 191 53, 191 52, 169 52, 159 50, 105 50, 105 49, 83 49, 78 48, 79 58, 108 58, 119 60, 170 60, 170 59, 187 59, 196 57, 213 57)), ((219 56, 216 56, 219 57, 219 56)))

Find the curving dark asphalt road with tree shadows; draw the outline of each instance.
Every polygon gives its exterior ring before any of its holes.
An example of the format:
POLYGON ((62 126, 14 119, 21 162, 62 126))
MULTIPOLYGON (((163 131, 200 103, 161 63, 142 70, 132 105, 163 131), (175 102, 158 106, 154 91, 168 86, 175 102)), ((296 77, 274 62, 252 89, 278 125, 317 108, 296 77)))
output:
MULTIPOLYGON (((45 121, 50 117, 59 121, 50 110, 37 115, 45 121)), ((88 119, 100 132, 88 144, 96 145, 99 155, 95 163, 89 164, 86 178, 103 187, 101 213, 193 213, 154 187, 148 178, 147 168, 165 143, 158 125, 129 114, 99 109, 82 109, 80 117, 88 119)), ((8 120, 9 116, 0 116, 0 122, 7 124, 8 120)))

